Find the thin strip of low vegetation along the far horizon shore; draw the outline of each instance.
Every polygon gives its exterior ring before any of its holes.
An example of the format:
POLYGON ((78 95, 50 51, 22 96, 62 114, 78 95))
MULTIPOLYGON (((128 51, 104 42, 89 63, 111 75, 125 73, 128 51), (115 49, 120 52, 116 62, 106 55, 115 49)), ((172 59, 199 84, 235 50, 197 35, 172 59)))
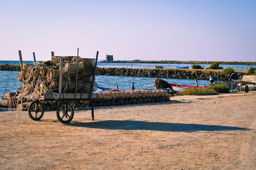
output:
MULTIPOLYGON (((132 61, 128 60, 117 60, 117 61, 99 61, 99 63, 163 63, 163 64, 196 64, 196 65, 207 65, 211 63, 215 63, 216 61, 175 61, 175 60, 140 60, 134 59, 132 61)), ((220 65, 256 65, 256 62, 252 61, 218 61, 220 65)))

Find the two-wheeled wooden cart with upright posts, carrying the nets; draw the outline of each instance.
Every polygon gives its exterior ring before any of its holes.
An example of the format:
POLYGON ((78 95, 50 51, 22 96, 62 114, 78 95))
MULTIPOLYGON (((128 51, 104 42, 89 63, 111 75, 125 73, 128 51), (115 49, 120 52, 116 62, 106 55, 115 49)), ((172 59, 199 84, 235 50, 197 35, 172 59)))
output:
MULTIPOLYGON (((90 93, 45 93, 42 98, 38 98, 37 100, 31 102, 28 108, 29 117, 32 120, 40 120, 44 116, 45 109, 43 102, 60 101, 61 104, 57 108, 56 116, 61 123, 69 123, 70 121, 72 121, 75 111, 74 104, 71 105, 70 102, 76 102, 76 100, 89 100, 90 107, 85 107, 84 110, 91 110, 92 120, 94 120, 94 108, 92 101, 97 99, 97 93, 93 93, 93 84, 95 81, 95 70, 97 67, 98 54, 99 52, 97 51, 95 65, 93 68, 93 79, 90 93)), ((60 77, 60 79, 62 78, 60 77)), ((59 90, 59 92, 61 91, 59 90)))

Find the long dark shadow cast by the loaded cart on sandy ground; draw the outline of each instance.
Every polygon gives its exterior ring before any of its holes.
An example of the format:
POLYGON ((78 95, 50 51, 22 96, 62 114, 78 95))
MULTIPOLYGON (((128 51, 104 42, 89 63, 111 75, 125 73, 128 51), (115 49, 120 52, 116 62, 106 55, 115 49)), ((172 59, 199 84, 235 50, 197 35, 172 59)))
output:
POLYGON ((187 123, 163 123, 133 120, 107 120, 83 123, 74 121, 65 124, 72 127, 101 128, 108 130, 156 130, 163 132, 199 132, 199 131, 228 131, 228 130, 250 130, 249 128, 228 127, 221 125, 200 125, 187 123))

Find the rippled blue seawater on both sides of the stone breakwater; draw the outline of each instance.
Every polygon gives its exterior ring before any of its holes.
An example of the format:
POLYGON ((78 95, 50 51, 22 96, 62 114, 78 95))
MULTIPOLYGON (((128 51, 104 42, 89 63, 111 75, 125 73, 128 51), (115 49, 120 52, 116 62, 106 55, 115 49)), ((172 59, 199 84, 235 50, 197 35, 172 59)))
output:
MULTIPOLYGON (((23 61, 24 63, 28 63, 33 65, 33 61, 23 61)), ((12 64, 19 65, 19 61, 0 61, 0 64, 12 64)), ((163 66, 164 68, 175 68, 175 66, 189 66, 186 64, 161 64, 161 63, 98 63, 99 67, 125 67, 125 68, 156 68, 156 66, 163 66)), ((207 68, 209 65, 202 65, 207 68)), ((250 67, 256 67, 256 65, 220 65, 223 68, 232 67, 237 70, 237 68, 243 68, 246 70, 250 67)), ((240 69, 241 70, 241 69, 240 69)), ((22 86, 22 82, 17 81, 19 72, 10 72, 10 71, 0 71, 0 101, 3 98, 4 93, 15 92, 20 86, 22 86)), ((95 82, 97 82, 98 86, 104 88, 112 88, 120 90, 129 90, 131 89, 132 82, 134 83, 135 89, 154 89, 154 81, 156 78, 148 78, 148 77, 118 77, 111 75, 99 75, 95 77, 95 82)), ((195 86, 195 80, 188 79, 163 79, 164 81, 173 83, 173 84, 184 84, 188 86, 195 86)), ((207 86, 209 85, 209 81, 198 81, 198 86, 207 86)))

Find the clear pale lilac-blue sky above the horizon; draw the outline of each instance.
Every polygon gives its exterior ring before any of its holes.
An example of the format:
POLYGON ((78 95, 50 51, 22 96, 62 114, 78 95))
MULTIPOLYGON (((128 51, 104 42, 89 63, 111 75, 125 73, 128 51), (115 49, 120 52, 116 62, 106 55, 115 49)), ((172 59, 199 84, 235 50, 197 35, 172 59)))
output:
POLYGON ((0 0, 0 60, 256 61, 256 1, 0 0))

